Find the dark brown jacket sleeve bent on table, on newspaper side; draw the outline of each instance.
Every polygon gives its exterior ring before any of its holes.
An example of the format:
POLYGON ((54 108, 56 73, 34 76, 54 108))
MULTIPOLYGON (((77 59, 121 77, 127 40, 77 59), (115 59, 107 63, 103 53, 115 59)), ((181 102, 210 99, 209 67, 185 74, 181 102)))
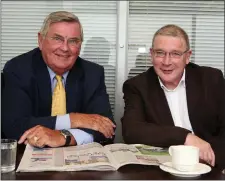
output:
POLYGON ((159 124, 157 120, 154 120, 157 115, 147 118, 146 112, 150 112, 145 107, 147 100, 143 100, 144 96, 137 87, 129 80, 123 85, 125 109, 121 122, 124 141, 129 144, 140 143, 160 147, 184 144, 190 131, 181 127, 159 124))

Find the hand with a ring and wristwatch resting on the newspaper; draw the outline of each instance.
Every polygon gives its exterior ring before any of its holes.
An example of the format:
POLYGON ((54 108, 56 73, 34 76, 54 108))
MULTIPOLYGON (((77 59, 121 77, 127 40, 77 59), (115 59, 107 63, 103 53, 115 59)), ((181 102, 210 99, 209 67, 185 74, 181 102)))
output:
POLYGON ((36 147, 59 147, 65 144, 65 138, 60 134, 58 130, 52 130, 40 125, 37 125, 33 128, 27 130, 19 140, 19 144, 21 143, 29 143, 30 145, 36 147))

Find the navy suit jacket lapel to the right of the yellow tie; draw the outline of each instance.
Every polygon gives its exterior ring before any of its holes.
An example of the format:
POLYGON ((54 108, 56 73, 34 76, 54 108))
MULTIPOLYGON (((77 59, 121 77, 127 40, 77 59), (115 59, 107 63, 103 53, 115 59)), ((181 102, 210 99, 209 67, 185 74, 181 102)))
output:
POLYGON ((82 62, 78 57, 66 80, 66 108, 68 113, 81 111, 82 77, 82 62))

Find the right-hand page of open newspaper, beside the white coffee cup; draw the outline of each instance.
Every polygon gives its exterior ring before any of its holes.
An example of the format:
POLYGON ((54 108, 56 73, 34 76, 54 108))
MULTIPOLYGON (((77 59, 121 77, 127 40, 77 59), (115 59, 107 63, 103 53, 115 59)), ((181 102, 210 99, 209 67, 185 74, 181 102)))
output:
POLYGON ((109 152, 113 165, 116 169, 127 164, 160 165, 171 161, 168 149, 147 146, 142 144, 111 144, 106 145, 105 149, 109 152))

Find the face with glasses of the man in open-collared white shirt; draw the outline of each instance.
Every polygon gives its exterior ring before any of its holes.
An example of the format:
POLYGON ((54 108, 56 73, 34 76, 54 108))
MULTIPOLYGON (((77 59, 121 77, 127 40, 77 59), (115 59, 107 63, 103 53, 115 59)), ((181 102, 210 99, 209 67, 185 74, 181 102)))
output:
POLYGON ((187 47, 183 38, 162 35, 155 37, 151 49, 152 63, 155 72, 169 89, 177 87, 184 68, 189 63, 191 51, 185 52, 186 50, 187 47))

